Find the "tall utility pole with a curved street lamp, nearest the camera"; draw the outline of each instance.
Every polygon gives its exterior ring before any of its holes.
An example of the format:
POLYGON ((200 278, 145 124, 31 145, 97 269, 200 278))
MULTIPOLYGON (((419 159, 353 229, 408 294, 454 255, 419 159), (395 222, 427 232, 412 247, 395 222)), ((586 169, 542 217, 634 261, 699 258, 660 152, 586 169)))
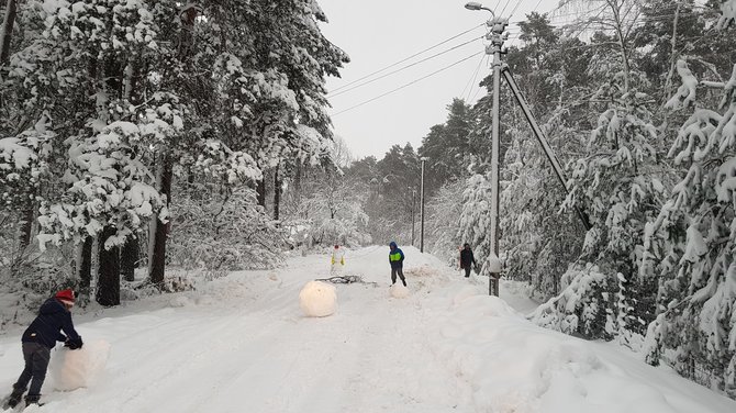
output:
MULTIPOLYGON (((495 16, 493 10, 483 7, 479 2, 471 1, 465 4, 468 10, 486 10, 493 19, 486 22, 490 27, 486 38, 491 44, 486 47, 486 54, 493 55, 493 109, 491 125, 491 252, 499 257, 499 105, 501 102, 501 46, 503 46, 503 32, 509 24, 508 20, 495 16)), ((499 295, 499 274, 491 274, 488 290, 491 295, 499 295)))

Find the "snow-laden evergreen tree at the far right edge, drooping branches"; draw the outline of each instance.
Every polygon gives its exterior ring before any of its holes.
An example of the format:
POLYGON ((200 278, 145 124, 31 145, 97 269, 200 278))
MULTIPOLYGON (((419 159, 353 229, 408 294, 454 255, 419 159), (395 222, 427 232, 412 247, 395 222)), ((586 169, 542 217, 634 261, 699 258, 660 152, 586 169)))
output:
POLYGON ((647 227, 646 269, 660 277, 647 357, 735 397, 736 66, 723 82, 699 81, 684 60, 677 68, 668 107, 691 115, 669 152, 682 180, 647 227), (699 86, 723 91, 718 108, 698 104, 699 86))

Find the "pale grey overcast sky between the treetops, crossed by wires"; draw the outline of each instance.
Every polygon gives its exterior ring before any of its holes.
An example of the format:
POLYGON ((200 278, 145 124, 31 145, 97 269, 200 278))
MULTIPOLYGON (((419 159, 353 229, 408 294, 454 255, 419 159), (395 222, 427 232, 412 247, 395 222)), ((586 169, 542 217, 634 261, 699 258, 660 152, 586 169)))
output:
MULTIPOLYGON (((481 40, 486 34, 482 24, 491 14, 466 10, 466 2, 319 0, 330 20, 330 23, 321 25, 323 33, 344 49, 352 60, 341 71, 342 78, 328 78, 327 89, 331 91, 328 98, 333 108, 330 113, 333 115, 334 131, 345 139, 355 158, 375 155, 380 159, 392 145, 403 146, 406 142, 416 149, 430 127, 446 120, 446 107, 453 98, 462 97, 475 102, 482 96, 477 83, 489 72, 488 59, 482 53, 486 44, 481 40), (470 32, 371 78, 346 86, 465 31, 470 32), (472 41, 473 37, 477 40, 472 41), (359 87, 376 77, 466 42, 470 43, 359 87), (448 67, 465 58, 467 60, 448 67), (446 67, 436 75, 417 80, 446 67), (478 75, 473 76, 477 70, 478 75), (378 98, 415 80, 415 83, 378 98), (338 89, 341 87, 343 89, 338 89), (355 89, 347 90, 350 88, 355 89), (344 93, 337 94, 341 92, 344 93), (375 98, 378 99, 349 109, 375 98)), ((510 16, 516 9, 511 15, 513 23, 524 20, 525 14, 535 8, 546 12, 557 3, 558 0, 487 0, 483 4, 495 9, 497 14, 502 16, 510 16)), ((511 24, 509 29, 513 38, 518 33, 518 25, 511 24)))

